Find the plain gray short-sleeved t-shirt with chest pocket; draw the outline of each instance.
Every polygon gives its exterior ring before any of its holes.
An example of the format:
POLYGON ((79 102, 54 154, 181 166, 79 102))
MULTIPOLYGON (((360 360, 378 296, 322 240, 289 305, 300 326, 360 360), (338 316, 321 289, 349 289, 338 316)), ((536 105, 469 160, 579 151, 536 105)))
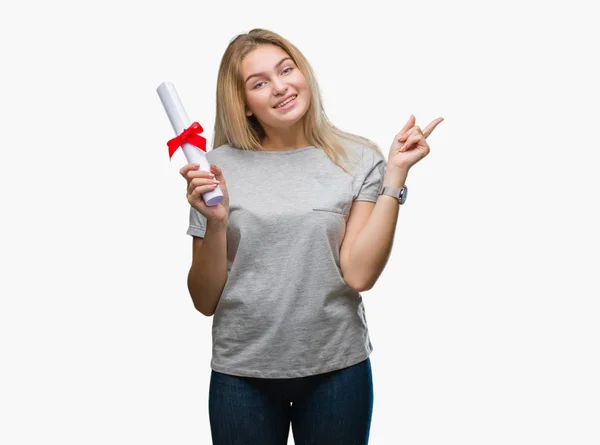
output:
MULTIPOLYGON (((362 296, 343 279, 340 249, 353 200, 377 202, 386 160, 341 142, 353 176, 315 146, 207 152, 229 190, 228 278, 213 316, 213 370, 304 377, 373 351, 362 296)), ((205 231, 206 218, 190 206, 187 234, 205 231)))

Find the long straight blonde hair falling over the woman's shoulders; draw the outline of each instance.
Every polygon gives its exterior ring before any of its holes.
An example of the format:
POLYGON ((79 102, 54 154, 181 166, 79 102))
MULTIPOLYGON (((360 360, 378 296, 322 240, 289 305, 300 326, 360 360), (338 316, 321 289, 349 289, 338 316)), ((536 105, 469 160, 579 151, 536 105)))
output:
POLYGON ((254 115, 245 114, 246 100, 242 79, 242 60, 260 45, 276 45, 294 61, 310 86, 311 101, 304 115, 304 134, 311 145, 321 148, 344 171, 350 173, 341 158, 347 152, 340 139, 354 141, 378 151, 373 141, 336 128, 327 118, 315 74, 308 60, 292 43, 266 29, 255 28, 231 40, 219 67, 217 78, 217 110, 213 134, 213 148, 229 145, 249 151, 264 151, 261 145, 265 132, 254 115))

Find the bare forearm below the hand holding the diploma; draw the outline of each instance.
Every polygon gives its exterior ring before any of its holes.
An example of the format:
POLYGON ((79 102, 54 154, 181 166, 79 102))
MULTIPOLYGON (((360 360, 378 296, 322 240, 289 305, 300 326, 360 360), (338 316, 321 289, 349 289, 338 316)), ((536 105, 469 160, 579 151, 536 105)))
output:
POLYGON ((204 238, 193 237, 188 289, 194 307, 210 317, 215 313, 227 281, 227 227, 207 222, 204 238))

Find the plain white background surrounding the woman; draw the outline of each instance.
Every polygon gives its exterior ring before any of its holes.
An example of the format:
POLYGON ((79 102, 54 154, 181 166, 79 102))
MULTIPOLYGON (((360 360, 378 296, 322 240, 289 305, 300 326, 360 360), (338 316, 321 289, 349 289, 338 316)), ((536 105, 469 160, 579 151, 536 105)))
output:
POLYGON ((221 56, 263 27, 386 157, 411 113, 445 118, 363 293, 370 443, 600 443, 600 36, 553 4, 2 6, 0 442, 210 443, 212 319, 156 87, 210 144, 221 56))

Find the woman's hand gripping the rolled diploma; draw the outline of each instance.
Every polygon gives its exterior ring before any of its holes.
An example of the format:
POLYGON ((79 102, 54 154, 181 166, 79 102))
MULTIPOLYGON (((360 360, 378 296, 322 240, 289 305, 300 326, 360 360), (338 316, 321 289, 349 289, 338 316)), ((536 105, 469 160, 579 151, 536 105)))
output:
POLYGON ((200 170, 197 164, 186 164, 179 173, 187 181, 187 200, 190 205, 198 210, 206 218, 207 226, 227 228, 229 222, 229 193, 227 183, 220 167, 214 164, 210 166, 211 172, 200 170), (213 175, 211 177, 211 175, 213 175), (216 181, 216 182, 215 182, 216 181), (216 186, 221 188, 223 200, 214 206, 207 206, 202 195, 214 190, 216 186))

